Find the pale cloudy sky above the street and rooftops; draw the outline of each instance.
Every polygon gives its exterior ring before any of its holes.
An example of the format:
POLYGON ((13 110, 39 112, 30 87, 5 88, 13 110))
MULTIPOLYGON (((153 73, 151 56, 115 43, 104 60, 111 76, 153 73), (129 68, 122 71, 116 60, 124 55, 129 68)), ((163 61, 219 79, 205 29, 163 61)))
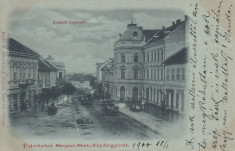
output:
POLYGON ((95 73, 96 63, 113 57, 114 42, 131 22, 144 29, 170 26, 184 19, 178 10, 15 10, 9 16, 9 37, 44 58, 64 62, 66 72, 95 73), (85 21, 85 24, 53 24, 53 21, 85 21))

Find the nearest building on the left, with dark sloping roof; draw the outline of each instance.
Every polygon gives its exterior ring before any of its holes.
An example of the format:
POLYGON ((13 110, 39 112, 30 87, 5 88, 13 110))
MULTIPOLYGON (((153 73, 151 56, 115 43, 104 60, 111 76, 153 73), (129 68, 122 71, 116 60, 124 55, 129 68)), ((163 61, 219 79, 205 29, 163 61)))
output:
POLYGON ((9 50, 9 110, 22 111, 31 108, 38 93, 38 58, 32 49, 18 41, 8 39, 9 50))

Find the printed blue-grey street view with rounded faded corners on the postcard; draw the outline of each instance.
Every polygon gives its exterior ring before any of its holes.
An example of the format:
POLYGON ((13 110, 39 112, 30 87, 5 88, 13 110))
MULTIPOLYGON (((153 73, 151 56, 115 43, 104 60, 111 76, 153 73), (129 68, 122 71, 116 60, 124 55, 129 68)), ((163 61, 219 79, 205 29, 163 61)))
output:
POLYGON ((184 135, 187 15, 30 11, 12 13, 8 35, 9 124, 16 135, 58 140, 184 135), (40 25, 32 24, 35 16, 40 25))

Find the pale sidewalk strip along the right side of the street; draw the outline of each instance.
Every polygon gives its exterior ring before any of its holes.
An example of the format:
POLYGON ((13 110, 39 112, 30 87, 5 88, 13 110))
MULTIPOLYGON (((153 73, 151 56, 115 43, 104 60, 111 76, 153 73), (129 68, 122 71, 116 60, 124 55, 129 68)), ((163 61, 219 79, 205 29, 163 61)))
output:
POLYGON ((168 122, 145 112, 131 112, 126 103, 118 103, 119 111, 134 118, 167 138, 179 138, 183 136, 185 124, 182 121, 168 122))

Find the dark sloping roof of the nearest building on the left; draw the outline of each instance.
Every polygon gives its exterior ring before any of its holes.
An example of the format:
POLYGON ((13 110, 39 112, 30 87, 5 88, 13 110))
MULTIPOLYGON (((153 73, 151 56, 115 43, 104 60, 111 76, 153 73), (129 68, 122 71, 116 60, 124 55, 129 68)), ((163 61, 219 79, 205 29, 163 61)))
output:
POLYGON ((13 38, 8 39, 7 48, 9 50, 10 56, 36 58, 36 59, 40 57, 38 53, 36 53, 32 49, 26 47, 25 45, 21 44, 20 42, 16 41, 13 38))

